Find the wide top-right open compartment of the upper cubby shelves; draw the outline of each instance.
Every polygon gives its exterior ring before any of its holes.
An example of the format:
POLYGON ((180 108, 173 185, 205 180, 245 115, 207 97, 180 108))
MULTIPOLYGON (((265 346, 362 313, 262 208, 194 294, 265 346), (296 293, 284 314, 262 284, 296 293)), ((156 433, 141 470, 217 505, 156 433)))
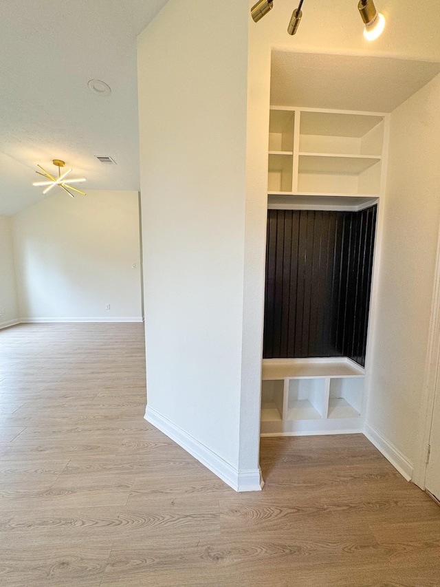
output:
POLYGON ((383 141, 382 116, 301 111, 300 153, 380 158, 383 141))

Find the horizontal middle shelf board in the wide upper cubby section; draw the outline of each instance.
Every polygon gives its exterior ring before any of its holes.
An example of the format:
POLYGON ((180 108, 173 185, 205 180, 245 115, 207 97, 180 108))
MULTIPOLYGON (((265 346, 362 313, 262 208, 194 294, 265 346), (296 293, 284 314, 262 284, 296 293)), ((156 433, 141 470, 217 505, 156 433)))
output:
POLYGON ((373 155, 340 155, 333 153, 298 153, 300 173, 342 173, 359 175, 380 162, 373 155))

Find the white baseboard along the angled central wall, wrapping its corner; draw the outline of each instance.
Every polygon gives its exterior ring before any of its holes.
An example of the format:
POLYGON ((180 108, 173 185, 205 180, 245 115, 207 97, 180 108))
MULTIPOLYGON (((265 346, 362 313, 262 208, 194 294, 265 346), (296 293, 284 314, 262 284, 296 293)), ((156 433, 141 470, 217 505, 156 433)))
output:
POLYGON ((205 467, 235 491, 261 491, 263 489, 260 469, 255 469, 254 471, 237 471, 235 467, 232 467, 232 465, 212 452, 211 449, 208 449, 199 440, 187 434, 148 405, 145 411, 145 419, 166 434, 168 438, 174 440, 177 445, 185 449, 191 456, 201 462, 202 465, 205 465, 205 467))

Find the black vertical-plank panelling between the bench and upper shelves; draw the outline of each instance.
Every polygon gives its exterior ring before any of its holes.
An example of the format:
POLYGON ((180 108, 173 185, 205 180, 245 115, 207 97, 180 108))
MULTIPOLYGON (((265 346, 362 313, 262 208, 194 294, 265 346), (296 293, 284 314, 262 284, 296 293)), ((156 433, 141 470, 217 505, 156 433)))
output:
POLYGON ((365 364, 375 222, 376 206, 268 211, 265 359, 365 364))

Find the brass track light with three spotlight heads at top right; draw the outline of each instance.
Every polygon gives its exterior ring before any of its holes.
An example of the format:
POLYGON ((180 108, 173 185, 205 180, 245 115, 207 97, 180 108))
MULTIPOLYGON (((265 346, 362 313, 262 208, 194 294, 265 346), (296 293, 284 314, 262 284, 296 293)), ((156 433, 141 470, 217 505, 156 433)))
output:
MULTIPOLYGON (((303 1, 304 0, 300 0, 298 8, 292 13, 292 18, 287 27, 287 32, 289 34, 295 34, 298 30, 301 17, 303 16, 303 12, 301 12, 303 1)), ((273 6, 273 0, 259 0, 250 10, 252 19, 257 23, 265 16, 265 14, 267 14, 267 12, 272 10, 273 6)), ((374 41, 382 34, 382 32, 384 32, 385 17, 380 12, 377 12, 373 0, 359 0, 358 9, 362 20, 365 23, 364 37, 367 41, 374 41)))

